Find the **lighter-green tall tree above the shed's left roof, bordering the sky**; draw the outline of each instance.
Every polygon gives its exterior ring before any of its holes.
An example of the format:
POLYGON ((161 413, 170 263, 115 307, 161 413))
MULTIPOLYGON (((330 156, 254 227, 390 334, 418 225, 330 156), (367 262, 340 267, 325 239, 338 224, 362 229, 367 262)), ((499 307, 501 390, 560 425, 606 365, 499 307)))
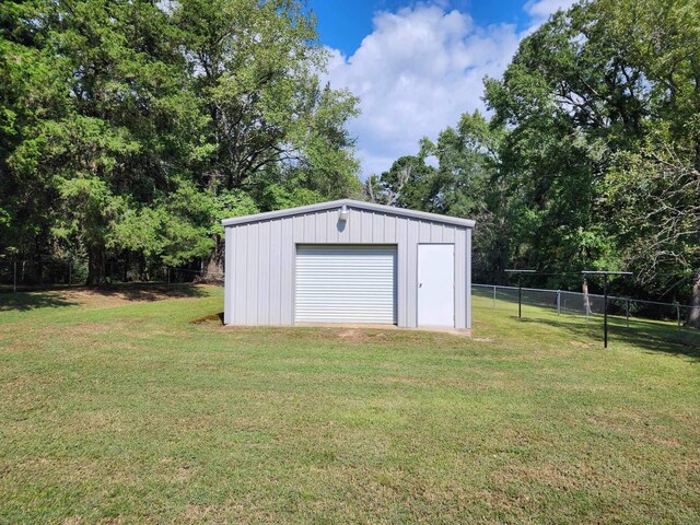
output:
MULTIPOLYGON (((244 190, 262 210, 278 206, 280 192, 304 201, 357 191, 345 130, 357 100, 319 90, 326 56, 300 2, 182 0, 173 19, 208 117, 194 165, 202 188, 244 190)), ((213 233, 212 242, 208 273, 220 273, 223 240, 213 233)))

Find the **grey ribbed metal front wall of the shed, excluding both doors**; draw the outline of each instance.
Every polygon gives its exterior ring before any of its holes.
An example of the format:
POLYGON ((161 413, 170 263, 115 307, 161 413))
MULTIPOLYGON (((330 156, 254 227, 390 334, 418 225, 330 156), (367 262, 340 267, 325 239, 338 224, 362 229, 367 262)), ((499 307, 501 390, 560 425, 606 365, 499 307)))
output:
POLYGON ((455 325, 470 328, 471 230, 350 208, 225 226, 224 323, 294 324, 298 244, 396 244, 398 326, 417 325, 418 244, 455 245, 455 325))

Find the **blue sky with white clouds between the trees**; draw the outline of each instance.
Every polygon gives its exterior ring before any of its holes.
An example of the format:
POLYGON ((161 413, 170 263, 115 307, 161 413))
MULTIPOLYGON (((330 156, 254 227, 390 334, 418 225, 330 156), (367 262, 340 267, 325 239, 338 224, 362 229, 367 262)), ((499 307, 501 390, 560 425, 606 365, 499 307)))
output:
POLYGON ((500 78, 518 43, 573 0, 311 0, 326 79, 360 97, 349 124, 362 178, 380 175, 422 137, 486 112, 485 75, 500 78))

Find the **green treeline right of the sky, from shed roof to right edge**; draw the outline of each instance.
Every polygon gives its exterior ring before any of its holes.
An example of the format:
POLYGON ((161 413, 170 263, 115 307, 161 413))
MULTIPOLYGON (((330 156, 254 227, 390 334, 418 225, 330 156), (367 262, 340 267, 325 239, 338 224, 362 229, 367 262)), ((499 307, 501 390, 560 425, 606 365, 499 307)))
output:
POLYGON ((366 182, 371 198, 477 219, 478 281, 534 268, 573 287, 583 269, 631 270, 622 293, 697 305, 699 326, 697 0, 559 12, 485 93, 490 118, 466 114, 423 139, 366 182))

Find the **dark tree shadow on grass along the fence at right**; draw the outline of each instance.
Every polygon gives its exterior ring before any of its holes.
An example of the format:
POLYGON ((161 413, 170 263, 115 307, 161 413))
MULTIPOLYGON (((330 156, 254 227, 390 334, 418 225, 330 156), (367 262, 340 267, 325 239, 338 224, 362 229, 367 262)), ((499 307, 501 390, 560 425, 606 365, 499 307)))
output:
MULTIPOLYGON (((523 318, 523 323, 540 323, 561 328, 579 340, 599 342, 603 347, 603 319, 596 317, 591 324, 582 324, 578 319, 523 318)), ((634 319, 627 328, 625 320, 612 318, 608 320, 608 346, 616 342, 631 345, 649 352, 664 352, 682 354, 700 360, 700 330, 664 325, 652 320, 634 319)))

